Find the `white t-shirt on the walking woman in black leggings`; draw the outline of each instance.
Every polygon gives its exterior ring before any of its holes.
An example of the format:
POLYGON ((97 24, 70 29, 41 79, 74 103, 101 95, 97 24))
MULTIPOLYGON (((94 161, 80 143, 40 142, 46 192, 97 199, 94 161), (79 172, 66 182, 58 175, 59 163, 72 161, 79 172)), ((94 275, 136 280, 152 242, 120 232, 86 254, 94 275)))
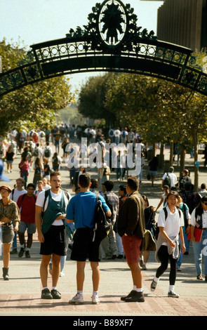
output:
MULTIPOLYGON (((168 217, 165 217, 165 212, 162 209, 159 213, 159 217, 157 220, 158 227, 164 227, 165 232, 168 237, 173 238, 176 237, 180 232, 180 227, 184 226, 183 213, 178 212, 178 209, 175 209, 175 213, 171 213, 168 206, 166 206, 168 211, 168 217)), ((165 245, 166 243, 163 243, 165 245)))

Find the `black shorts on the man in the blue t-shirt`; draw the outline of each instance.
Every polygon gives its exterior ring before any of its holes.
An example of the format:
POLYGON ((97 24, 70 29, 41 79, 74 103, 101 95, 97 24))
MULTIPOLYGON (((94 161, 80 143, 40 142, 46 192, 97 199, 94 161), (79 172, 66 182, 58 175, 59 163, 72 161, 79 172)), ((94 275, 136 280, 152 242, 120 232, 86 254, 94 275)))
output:
POLYGON ((79 228, 74 234, 71 260, 76 261, 99 261, 100 240, 93 242, 93 228, 79 228))

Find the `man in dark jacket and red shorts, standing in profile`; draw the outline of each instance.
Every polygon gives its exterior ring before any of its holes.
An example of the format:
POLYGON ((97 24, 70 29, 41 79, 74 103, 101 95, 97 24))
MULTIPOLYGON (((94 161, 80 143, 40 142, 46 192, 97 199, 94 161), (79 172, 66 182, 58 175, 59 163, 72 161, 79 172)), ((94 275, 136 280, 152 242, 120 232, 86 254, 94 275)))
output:
POLYGON ((138 178, 129 177, 126 185, 128 198, 119 209, 117 223, 117 230, 121 236, 123 250, 133 278, 133 290, 128 296, 121 297, 122 301, 128 303, 145 301, 142 272, 139 266, 140 245, 145 235, 145 203, 138 193, 138 189, 138 178))

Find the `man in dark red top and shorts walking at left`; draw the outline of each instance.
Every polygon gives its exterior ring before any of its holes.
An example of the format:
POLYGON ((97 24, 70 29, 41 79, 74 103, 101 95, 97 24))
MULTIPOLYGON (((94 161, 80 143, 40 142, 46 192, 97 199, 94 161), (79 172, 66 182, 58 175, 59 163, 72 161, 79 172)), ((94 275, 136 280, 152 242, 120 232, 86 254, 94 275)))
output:
POLYGON ((32 247, 33 234, 36 232, 35 225, 35 203, 36 195, 34 194, 34 185, 27 185, 27 193, 20 195, 18 198, 18 208, 20 209, 20 225, 19 225, 19 240, 20 252, 18 256, 22 258, 25 253, 26 258, 30 258, 30 249, 32 247), (25 231, 27 230, 27 247, 25 247, 25 231))

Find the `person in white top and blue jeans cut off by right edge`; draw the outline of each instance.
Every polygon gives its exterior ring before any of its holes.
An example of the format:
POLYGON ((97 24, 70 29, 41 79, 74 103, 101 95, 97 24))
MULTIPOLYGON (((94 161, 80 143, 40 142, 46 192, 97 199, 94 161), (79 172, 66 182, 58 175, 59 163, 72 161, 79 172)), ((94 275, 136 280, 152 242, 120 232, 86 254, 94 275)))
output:
POLYGON ((205 281, 207 282, 207 194, 201 198, 199 205, 192 211, 191 219, 191 241, 194 249, 194 260, 196 265, 197 279, 203 280, 202 277, 202 255, 205 265, 205 281), (195 230, 202 230, 200 242, 196 242, 195 230))

